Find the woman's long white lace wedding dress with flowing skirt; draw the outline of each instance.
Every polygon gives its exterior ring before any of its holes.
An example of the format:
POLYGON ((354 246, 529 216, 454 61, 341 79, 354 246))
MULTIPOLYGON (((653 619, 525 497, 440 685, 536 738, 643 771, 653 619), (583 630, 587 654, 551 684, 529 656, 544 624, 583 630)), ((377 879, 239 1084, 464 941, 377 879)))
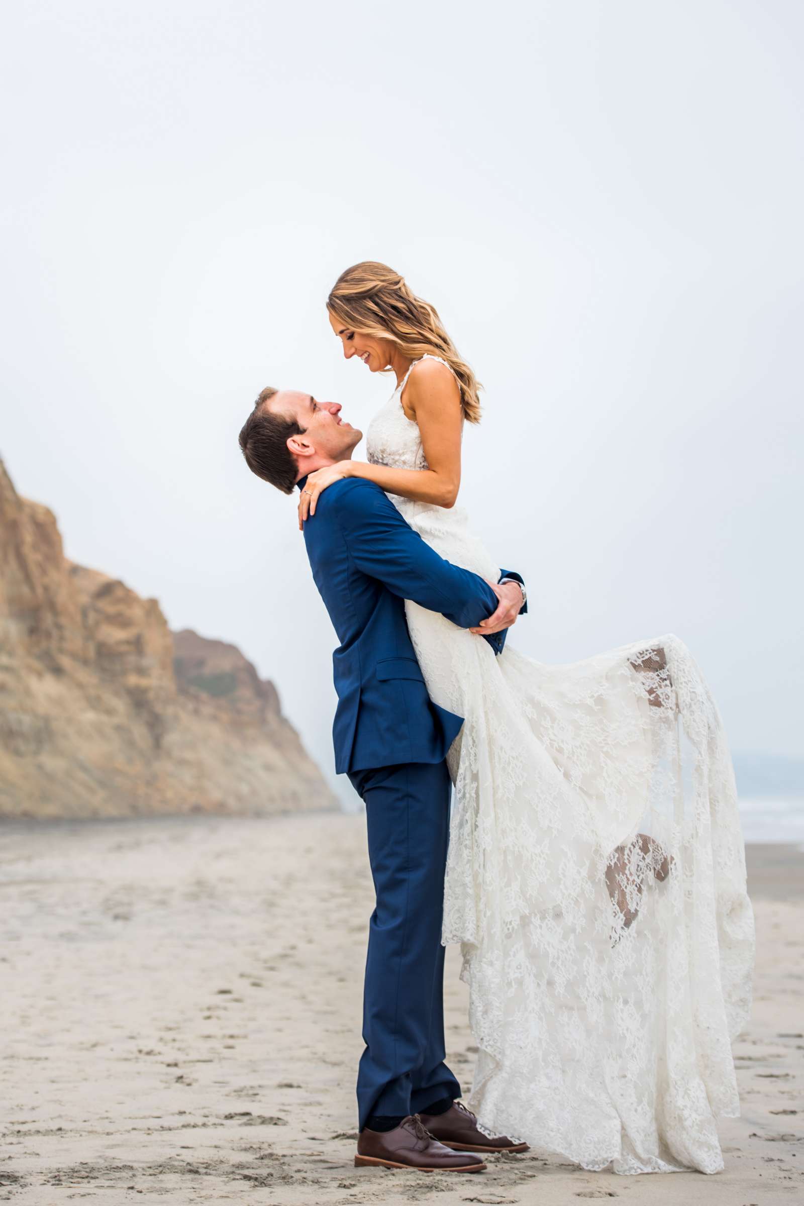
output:
MULTIPOLYGON (((368 457, 424 469, 404 385, 368 457)), ((439 554, 497 580, 463 510, 391 497, 439 554)), ((442 941, 463 944, 481 1125, 586 1169, 717 1172, 716 1118, 739 1113, 730 1043, 753 918, 700 671, 674 636, 544 666, 516 651, 516 628, 497 657, 433 611, 406 613, 432 698, 465 718, 448 756, 442 941)))

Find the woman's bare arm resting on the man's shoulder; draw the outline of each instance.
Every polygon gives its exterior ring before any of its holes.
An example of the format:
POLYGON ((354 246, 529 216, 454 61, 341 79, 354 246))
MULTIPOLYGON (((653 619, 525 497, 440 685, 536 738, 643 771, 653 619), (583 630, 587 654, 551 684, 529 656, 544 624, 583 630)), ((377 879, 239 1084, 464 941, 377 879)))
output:
POLYGON ((341 478, 365 478, 389 494, 419 503, 454 507, 460 486, 462 410, 458 382, 438 361, 423 361, 411 373, 403 392, 404 411, 418 423, 427 469, 393 469, 365 461, 339 461, 307 478, 299 503, 299 526, 316 514, 318 494, 341 478))

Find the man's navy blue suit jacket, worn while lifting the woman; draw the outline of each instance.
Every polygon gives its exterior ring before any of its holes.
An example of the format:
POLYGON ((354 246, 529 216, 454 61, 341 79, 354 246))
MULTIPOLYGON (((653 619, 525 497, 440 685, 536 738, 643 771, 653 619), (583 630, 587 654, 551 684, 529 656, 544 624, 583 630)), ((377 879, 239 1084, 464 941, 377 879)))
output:
MULTIPOLYGON (((439 557, 388 496, 360 478, 341 479, 319 496, 304 539, 340 640, 333 655, 335 771, 440 762, 463 716, 439 708, 427 693, 404 601, 474 628, 497 610, 497 596, 477 574, 439 557)), ((507 570, 501 576, 522 581, 507 570)), ((500 652, 505 636, 483 639, 500 652)))

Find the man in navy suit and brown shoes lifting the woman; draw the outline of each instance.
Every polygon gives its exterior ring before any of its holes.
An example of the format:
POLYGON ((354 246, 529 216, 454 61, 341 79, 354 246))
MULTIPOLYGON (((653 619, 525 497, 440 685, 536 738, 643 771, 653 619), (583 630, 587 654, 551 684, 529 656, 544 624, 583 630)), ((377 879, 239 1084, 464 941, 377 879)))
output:
MULTIPOLYGON (((351 458, 362 432, 341 408, 263 390, 240 432, 246 462, 292 493, 315 469, 351 458)), ((447 853, 446 754, 463 724, 427 693, 404 601, 480 628, 500 652, 524 610, 521 579, 489 586, 444 561, 372 482, 350 478, 304 526, 316 585, 340 640, 334 678, 335 769, 365 802, 376 908, 369 927, 357 1096, 357 1165, 480 1172, 474 1153, 520 1152, 454 1103, 444 1062, 441 909, 447 853)))

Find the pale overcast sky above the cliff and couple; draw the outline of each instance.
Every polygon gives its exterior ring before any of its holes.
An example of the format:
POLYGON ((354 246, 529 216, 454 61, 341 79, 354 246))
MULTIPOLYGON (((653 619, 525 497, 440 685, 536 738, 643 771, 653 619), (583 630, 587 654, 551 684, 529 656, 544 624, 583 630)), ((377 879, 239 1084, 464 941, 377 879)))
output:
POLYGON ((803 33, 782 0, 7 7, 18 490, 236 643, 331 773, 334 633, 237 431, 268 384, 368 426, 394 382, 324 300, 382 259, 486 387, 462 503, 527 579, 511 639, 676 632, 735 750, 800 754, 803 33))

